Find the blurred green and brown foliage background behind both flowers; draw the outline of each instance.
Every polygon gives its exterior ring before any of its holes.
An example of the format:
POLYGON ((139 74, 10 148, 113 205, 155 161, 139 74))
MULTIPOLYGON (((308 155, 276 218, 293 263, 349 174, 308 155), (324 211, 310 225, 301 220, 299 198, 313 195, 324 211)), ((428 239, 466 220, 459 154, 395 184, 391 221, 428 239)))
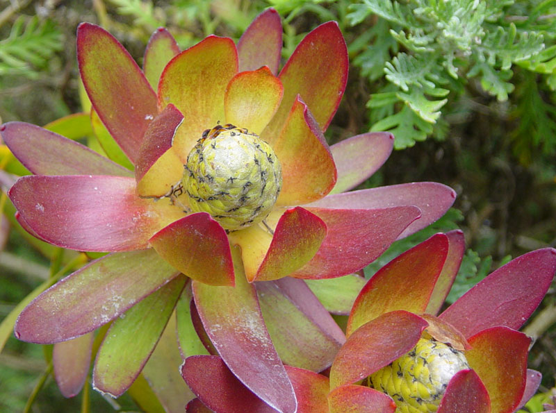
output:
MULTIPOLYGON (((443 219, 395 243, 366 276, 432 233, 461 228, 469 250, 453 301, 510 258, 556 246, 556 0, 0 0, 1 121, 45 125, 88 109, 79 98, 79 22, 100 24, 141 62, 158 26, 181 49, 212 33, 237 40, 269 6, 284 19, 284 60, 318 24, 340 25, 350 78, 329 143, 390 130, 403 149, 361 187, 434 180, 458 193, 443 219)), ((0 153, 0 169, 23 174, 13 163, 0 153)), ((4 318, 49 276, 83 259, 26 235, 4 194, 0 211, 4 318)), ((525 327, 537 339, 530 367, 543 373, 544 394, 531 412, 552 400, 555 321, 552 287, 525 327)), ((96 391, 64 399, 43 347, 8 339, 0 354, 0 411, 139 410, 129 397, 113 401, 96 391)))

